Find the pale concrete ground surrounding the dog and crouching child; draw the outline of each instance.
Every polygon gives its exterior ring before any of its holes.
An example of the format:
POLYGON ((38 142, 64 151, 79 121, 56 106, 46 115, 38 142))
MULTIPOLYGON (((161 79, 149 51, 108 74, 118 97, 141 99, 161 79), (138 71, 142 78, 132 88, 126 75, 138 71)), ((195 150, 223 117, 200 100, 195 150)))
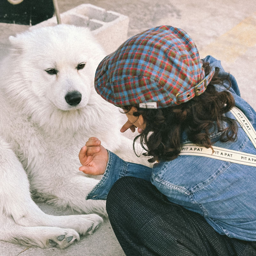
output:
MULTIPOLYGON (((212 55, 236 77, 241 96, 256 109, 256 5, 254 1, 215 0, 59 0, 60 12, 79 4, 90 3, 130 17, 128 36, 158 25, 184 29, 195 41, 201 58, 212 55)), ((0 57, 8 46, 7 37, 26 30, 27 26, 1 25, 0 57)), ((56 215, 69 214, 40 205, 43 211, 56 215)), ((124 256, 108 221, 92 235, 82 237, 65 250, 40 249, 0 241, 1 256, 124 256)), ((134 255, 136 256, 136 255, 134 255)))

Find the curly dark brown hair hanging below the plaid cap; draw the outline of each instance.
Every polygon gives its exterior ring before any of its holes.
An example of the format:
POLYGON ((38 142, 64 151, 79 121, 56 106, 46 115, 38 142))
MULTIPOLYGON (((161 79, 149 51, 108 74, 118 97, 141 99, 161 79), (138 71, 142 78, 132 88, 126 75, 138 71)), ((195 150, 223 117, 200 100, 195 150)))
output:
MULTIPOLYGON (((203 67, 207 76, 211 67, 208 62, 203 62, 203 67)), ((146 128, 135 137, 134 152, 135 142, 140 138, 140 145, 146 150, 143 155, 151 157, 148 162, 173 160, 180 154, 181 135, 184 131, 190 141, 205 148, 212 148, 213 142, 209 136, 216 129, 222 132, 220 141, 236 141, 236 120, 223 115, 235 106, 235 100, 230 92, 217 92, 214 87, 214 84, 223 84, 225 80, 231 86, 231 82, 229 75, 220 77, 219 71, 219 68, 215 68, 214 76, 204 93, 185 103, 159 109, 139 108, 139 105, 135 105, 137 111, 133 116, 142 115, 146 128), (224 128, 223 122, 227 124, 224 128)), ((124 113, 131 108, 124 106, 124 113)))

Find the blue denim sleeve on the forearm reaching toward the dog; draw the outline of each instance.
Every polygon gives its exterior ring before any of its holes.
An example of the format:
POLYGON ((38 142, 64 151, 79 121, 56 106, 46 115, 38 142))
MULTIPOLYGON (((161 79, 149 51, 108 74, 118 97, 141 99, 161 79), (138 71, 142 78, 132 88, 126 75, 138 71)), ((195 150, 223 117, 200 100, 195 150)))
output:
POLYGON ((87 194, 87 199, 106 200, 110 188, 123 176, 133 176, 150 181, 152 168, 142 164, 125 162, 108 151, 108 164, 99 183, 87 194))

